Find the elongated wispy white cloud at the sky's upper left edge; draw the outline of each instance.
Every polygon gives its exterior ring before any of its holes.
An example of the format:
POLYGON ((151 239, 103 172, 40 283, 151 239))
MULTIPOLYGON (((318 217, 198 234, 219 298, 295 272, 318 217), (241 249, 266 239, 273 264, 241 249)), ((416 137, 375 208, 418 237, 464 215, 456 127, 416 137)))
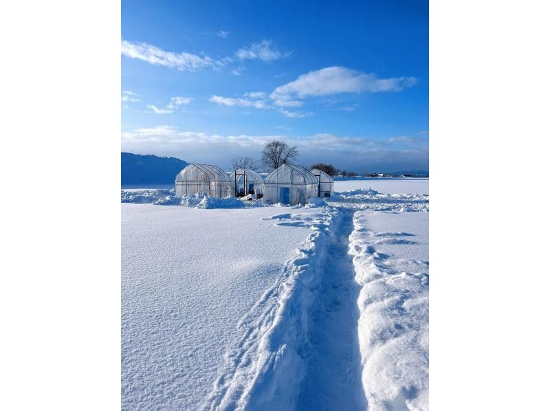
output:
POLYGON ((197 56, 197 54, 185 52, 165 52, 148 43, 135 43, 122 40, 121 46, 124 56, 144 60, 152 65, 162 65, 181 71, 198 71, 205 67, 218 69, 224 65, 220 60, 213 60, 208 56, 197 56))

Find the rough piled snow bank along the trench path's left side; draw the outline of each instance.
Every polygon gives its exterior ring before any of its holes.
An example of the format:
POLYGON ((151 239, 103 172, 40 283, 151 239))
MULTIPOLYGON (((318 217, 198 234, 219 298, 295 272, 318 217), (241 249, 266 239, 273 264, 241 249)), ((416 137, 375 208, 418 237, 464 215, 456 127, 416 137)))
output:
MULTIPOLYGON (((307 210, 307 209, 303 209, 307 210)), ((240 322, 243 336, 224 355, 203 410, 289 410, 307 375, 309 312, 321 280, 327 230, 335 210, 270 217, 279 227, 309 225, 312 232, 270 289, 240 322)))

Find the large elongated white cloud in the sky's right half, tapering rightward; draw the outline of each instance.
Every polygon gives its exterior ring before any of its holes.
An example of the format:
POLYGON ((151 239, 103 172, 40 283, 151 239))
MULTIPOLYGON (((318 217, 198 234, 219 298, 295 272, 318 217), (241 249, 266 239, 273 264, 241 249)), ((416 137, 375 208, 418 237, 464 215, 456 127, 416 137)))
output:
POLYGON ((418 80, 414 77, 377 78, 374 74, 348 69, 325 67, 303 74, 296 80, 277 87, 271 94, 276 102, 293 101, 293 98, 329 96, 338 93, 396 92, 412 87, 418 80))

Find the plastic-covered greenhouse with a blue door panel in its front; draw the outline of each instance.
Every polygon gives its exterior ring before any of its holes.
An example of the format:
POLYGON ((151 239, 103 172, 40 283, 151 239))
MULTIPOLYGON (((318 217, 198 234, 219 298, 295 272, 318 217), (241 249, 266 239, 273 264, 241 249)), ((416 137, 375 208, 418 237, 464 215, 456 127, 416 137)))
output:
POLYGON ((309 197, 317 197, 317 191, 316 177, 292 164, 276 168, 263 181, 263 201, 266 203, 305 204, 309 197))

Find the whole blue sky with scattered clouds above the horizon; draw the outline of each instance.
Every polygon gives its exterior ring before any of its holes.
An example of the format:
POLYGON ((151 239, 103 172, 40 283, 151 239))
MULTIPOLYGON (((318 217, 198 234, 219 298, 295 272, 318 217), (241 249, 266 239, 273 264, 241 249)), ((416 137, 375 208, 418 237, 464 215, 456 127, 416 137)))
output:
POLYGON ((428 2, 122 1, 122 150, 428 170, 428 2))

